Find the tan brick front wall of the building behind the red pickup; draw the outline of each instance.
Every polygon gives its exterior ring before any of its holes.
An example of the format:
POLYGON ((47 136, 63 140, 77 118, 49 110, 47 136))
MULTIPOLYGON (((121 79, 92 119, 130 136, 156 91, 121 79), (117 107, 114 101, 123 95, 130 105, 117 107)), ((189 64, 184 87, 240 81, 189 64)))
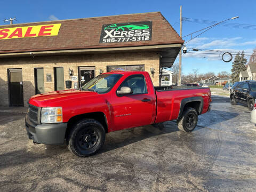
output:
MULTIPOLYGON (((73 76, 78 76, 78 67, 95 66, 95 76, 99 75, 99 69, 103 73, 107 66, 117 65, 144 65, 145 71, 150 73, 150 68, 155 68, 152 81, 155 86, 159 85, 159 55, 156 52, 140 53, 113 53, 94 55, 63 55, 34 58, 5 58, 0 60, 0 106, 9 106, 7 69, 21 68, 23 80, 24 105, 31 95, 35 94, 34 68, 44 68, 44 91, 54 91, 54 67, 63 67, 64 80, 70 79, 68 69, 73 69, 73 76), (52 82, 46 82, 46 74, 52 75, 52 82)), ((150 74, 151 76, 151 74, 150 74)), ((72 87, 74 84, 72 85, 72 87)), ((66 86, 65 86, 66 88, 66 86)))

